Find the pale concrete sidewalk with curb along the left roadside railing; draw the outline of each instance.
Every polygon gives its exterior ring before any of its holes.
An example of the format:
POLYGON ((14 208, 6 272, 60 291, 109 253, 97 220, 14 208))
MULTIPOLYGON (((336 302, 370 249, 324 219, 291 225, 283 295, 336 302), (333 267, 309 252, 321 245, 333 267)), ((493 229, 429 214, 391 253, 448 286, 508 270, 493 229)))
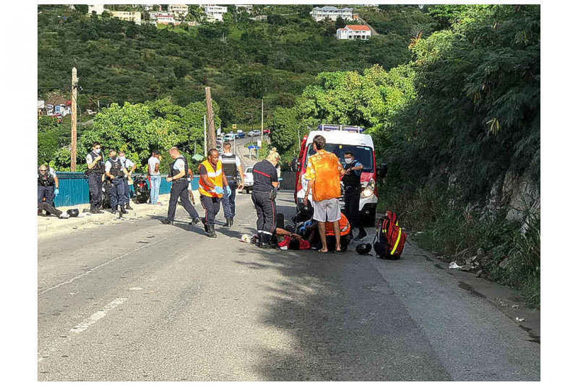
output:
MULTIPOLYGON (((75 206, 61 206, 57 207, 60 211, 66 211, 69 208, 77 208, 80 214, 76 218, 60 219, 55 216, 38 216, 37 227, 38 227, 38 238, 46 238, 49 236, 54 236, 55 234, 69 233, 73 230, 79 230, 81 228, 91 227, 92 225, 105 225, 114 223, 123 223, 126 220, 143 218, 146 215, 158 215, 166 217, 166 212, 168 211, 170 194, 163 194, 158 197, 158 201, 162 205, 151 205, 151 204, 136 204, 131 202, 131 207, 134 210, 129 210, 128 214, 123 215, 124 220, 118 220, 118 214, 110 214, 108 210, 104 214, 89 214, 83 212, 85 208, 90 208, 90 204, 80 204, 75 206)), ((195 205, 195 208, 200 207, 200 204, 195 205)))

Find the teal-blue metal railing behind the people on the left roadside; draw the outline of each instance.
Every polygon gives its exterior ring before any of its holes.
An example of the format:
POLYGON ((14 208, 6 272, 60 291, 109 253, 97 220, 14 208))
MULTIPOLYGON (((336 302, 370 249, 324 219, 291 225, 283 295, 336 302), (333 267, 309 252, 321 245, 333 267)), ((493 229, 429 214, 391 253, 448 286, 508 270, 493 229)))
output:
MULTIPOLYGON (((136 177, 138 174, 135 174, 136 177)), ((89 203, 88 200, 88 178, 84 173, 60 173, 58 177, 58 195, 54 197, 54 206, 71 206, 75 204, 89 203)), ((166 181, 166 174, 161 174, 161 188, 159 194, 168 194, 171 192, 171 183, 166 181)), ((149 181, 147 180, 147 185, 149 181)), ((191 188, 199 188, 199 177, 193 177, 191 188)), ((134 194, 134 188, 129 186, 131 196, 134 194)), ((150 185, 149 185, 150 189, 150 185)))

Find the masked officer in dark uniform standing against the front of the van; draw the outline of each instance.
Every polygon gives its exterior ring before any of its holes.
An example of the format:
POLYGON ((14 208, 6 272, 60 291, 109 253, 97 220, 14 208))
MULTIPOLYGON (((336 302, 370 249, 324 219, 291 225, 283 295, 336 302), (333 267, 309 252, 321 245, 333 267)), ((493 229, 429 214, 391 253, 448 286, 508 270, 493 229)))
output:
POLYGON ((361 226, 361 221, 359 217, 360 212, 360 198, 361 198, 361 170, 363 170, 363 165, 355 160, 353 152, 347 151, 344 154, 345 167, 341 171, 343 175, 341 181, 343 182, 344 188, 344 200, 345 200, 345 215, 351 223, 351 228, 357 227, 359 232, 354 238, 355 241, 360 241, 364 238, 367 233, 363 226, 361 226))

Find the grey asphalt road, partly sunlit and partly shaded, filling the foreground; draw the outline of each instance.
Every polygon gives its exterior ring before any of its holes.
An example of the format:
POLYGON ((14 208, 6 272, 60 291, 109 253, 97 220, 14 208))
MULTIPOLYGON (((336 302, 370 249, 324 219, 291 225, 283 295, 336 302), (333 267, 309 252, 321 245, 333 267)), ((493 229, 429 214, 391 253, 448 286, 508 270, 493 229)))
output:
POLYGON ((539 343, 412 245, 257 249, 245 194, 216 239, 185 217, 39 241, 38 380, 540 379, 539 343))

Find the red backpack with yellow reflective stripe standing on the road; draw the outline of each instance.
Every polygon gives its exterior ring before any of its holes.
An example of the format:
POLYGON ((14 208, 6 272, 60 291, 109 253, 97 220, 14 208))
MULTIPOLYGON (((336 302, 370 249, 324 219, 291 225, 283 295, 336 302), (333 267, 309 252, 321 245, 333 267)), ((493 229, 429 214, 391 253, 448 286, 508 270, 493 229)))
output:
POLYGON ((381 259, 399 259, 407 234, 399 227, 397 214, 390 210, 377 220, 373 249, 381 259))

